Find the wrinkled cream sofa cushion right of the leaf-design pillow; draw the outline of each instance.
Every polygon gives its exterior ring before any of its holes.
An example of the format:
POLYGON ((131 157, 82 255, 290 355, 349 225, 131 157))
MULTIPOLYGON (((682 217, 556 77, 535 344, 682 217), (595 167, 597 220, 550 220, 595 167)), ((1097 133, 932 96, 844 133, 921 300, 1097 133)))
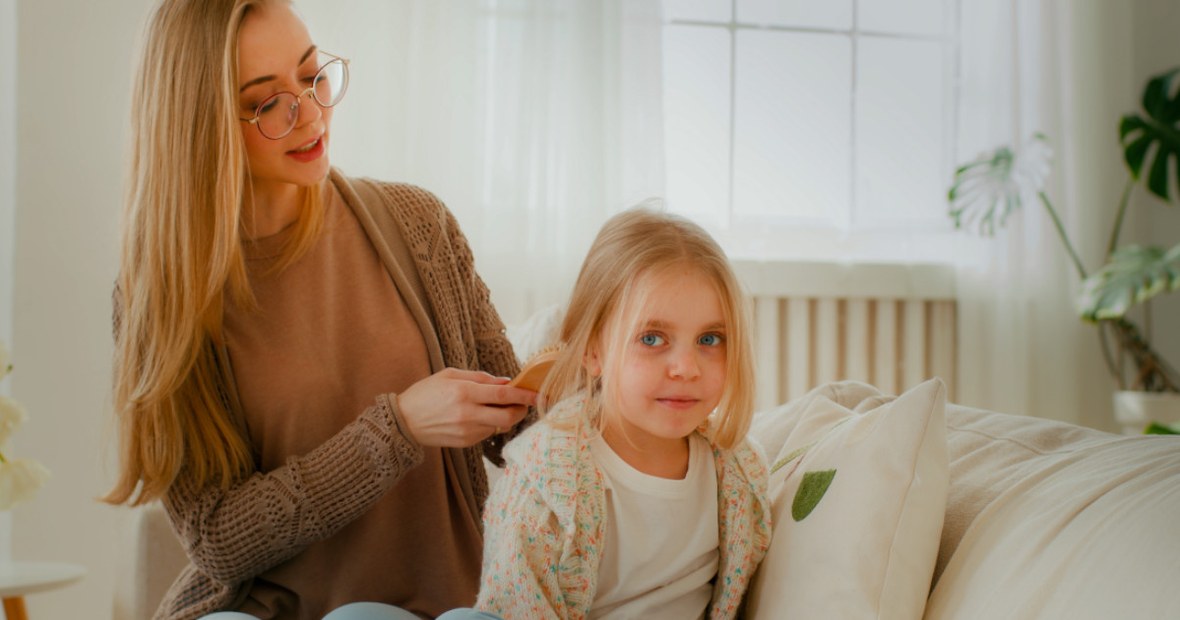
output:
POLYGON ((927 619, 1180 618, 1180 438, 948 410, 957 500, 927 619))

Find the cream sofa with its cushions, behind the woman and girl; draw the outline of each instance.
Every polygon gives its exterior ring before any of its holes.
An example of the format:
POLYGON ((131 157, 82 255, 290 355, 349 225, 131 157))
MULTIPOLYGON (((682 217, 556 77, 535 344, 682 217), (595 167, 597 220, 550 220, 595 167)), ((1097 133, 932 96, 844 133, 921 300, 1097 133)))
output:
MULTIPOLYGON (((749 618, 1180 618, 1180 438, 1119 436, 838 381, 755 416, 774 539, 749 618)), ((494 472, 493 472, 494 475, 494 472)), ((114 618, 185 562, 158 504, 114 618)))

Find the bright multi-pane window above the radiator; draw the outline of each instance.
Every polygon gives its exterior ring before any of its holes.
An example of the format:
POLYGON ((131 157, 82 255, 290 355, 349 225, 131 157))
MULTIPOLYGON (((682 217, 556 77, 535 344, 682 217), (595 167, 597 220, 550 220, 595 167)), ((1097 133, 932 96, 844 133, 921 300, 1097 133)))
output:
POLYGON ((948 260, 957 0, 664 0, 669 207, 743 257, 948 260))

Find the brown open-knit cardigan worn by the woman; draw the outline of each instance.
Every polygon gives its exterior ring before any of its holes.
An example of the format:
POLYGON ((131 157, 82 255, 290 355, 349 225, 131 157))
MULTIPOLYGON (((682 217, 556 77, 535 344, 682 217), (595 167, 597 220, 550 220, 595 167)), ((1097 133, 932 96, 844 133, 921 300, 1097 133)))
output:
MULTIPOLYGON (((386 268, 418 274, 426 298, 422 304, 441 345, 442 365, 514 374, 518 363, 504 326, 487 287, 476 274, 471 248, 446 207, 412 185, 348 180, 335 170, 330 178, 358 218, 371 223, 366 233, 386 268), (382 236, 394 229, 409 248, 413 265, 394 265, 389 253, 380 252, 391 244, 382 236)), ((228 352, 218 350, 222 387, 234 410, 237 399, 228 360, 228 352)), ((530 420, 532 416, 530 412, 530 420)), ((355 422, 315 450, 269 472, 255 472, 228 491, 191 488, 182 475, 164 505, 192 563, 172 585, 156 618, 186 620, 236 607, 255 575, 368 510, 424 458, 422 449, 401 424, 396 399, 379 396, 355 422)), ((509 437, 464 450, 477 510, 487 497, 483 457, 500 462, 503 442, 509 437)))

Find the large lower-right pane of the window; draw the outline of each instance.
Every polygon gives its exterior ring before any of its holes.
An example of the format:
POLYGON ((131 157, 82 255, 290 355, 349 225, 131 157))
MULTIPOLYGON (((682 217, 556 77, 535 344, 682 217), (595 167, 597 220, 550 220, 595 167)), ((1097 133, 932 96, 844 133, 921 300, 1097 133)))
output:
POLYGON ((857 60, 856 223, 945 220, 942 44, 863 37, 857 60))

